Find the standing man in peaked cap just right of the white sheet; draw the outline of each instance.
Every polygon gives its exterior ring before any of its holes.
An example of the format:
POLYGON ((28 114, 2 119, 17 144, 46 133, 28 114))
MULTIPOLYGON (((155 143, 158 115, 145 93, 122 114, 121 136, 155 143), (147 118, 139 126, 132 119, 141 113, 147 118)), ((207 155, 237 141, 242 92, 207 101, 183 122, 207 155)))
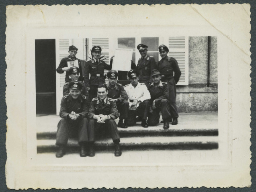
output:
POLYGON ((156 61, 153 57, 147 55, 147 46, 144 44, 139 44, 137 46, 141 58, 139 58, 137 64, 137 71, 139 72, 139 82, 145 83, 147 86, 150 82, 150 73, 153 69, 156 69, 156 61))

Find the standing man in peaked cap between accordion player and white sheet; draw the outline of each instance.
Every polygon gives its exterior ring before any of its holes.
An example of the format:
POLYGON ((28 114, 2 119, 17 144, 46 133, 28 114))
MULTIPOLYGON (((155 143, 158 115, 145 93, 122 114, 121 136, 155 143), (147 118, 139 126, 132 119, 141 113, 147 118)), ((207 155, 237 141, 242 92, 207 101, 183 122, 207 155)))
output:
POLYGON ((89 98, 95 98, 97 96, 98 85, 105 83, 104 69, 111 70, 112 63, 106 64, 103 60, 100 60, 101 55, 100 46, 92 47, 92 60, 87 61, 84 68, 84 84, 89 92, 89 98), (89 74, 90 80, 89 80, 89 74))

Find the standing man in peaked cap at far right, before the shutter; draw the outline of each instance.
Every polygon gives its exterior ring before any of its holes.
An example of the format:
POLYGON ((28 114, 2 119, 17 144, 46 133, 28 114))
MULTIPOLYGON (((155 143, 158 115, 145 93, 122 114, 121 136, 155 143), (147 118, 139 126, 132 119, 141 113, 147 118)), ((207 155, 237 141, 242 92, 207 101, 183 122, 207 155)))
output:
POLYGON ((162 75, 162 81, 168 83, 169 88, 169 102, 172 125, 178 124, 178 111, 176 106, 176 84, 180 79, 180 68, 176 59, 168 57, 169 49, 165 45, 159 46, 159 53, 162 59, 158 62, 158 70, 162 75))

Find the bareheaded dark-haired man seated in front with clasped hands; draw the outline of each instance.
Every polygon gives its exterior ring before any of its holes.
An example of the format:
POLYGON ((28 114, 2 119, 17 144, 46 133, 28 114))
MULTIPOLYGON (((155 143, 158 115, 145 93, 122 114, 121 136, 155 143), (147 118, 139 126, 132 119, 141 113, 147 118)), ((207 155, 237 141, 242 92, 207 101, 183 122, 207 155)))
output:
MULTIPOLYGON (((115 119, 118 118, 117 104, 115 100, 107 97, 108 91, 105 84, 98 86, 98 97, 93 98, 88 112, 89 127, 100 131, 107 129, 115 144, 115 156, 121 156, 122 152, 119 146, 120 136, 117 130, 115 119)), ((90 146, 89 154, 94 155, 94 146, 90 146)))

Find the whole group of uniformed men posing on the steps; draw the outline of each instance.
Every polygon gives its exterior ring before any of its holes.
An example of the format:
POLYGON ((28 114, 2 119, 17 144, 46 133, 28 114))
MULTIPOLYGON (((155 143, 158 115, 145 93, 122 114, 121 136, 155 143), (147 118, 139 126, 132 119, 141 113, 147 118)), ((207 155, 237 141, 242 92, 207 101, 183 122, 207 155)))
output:
POLYGON ((115 156, 121 156, 120 136, 117 127, 127 128, 141 122, 141 126, 156 126, 162 113, 163 128, 169 123, 178 124, 176 107, 176 84, 181 72, 177 61, 168 56, 169 49, 159 46, 162 59, 156 63, 147 55, 147 46, 139 44, 141 54, 137 66, 131 62, 127 73, 130 84, 117 83, 118 72, 100 60, 100 46, 92 47, 92 59, 84 62, 76 58, 78 49, 69 47, 69 56, 63 58, 56 69, 58 73, 66 71, 66 83, 63 86, 63 98, 57 125, 56 145, 59 150, 56 157, 66 153, 68 138, 78 135, 80 156, 94 156, 94 140, 99 133, 109 132, 115 144, 115 156), (68 67, 68 61, 78 60, 78 66, 68 67), (109 83, 105 83, 104 70, 109 83), (90 78, 89 78, 90 77, 90 78), (120 115, 119 115, 120 114, 120 115), (115 119, 119 117, 116 124, 115 119))

